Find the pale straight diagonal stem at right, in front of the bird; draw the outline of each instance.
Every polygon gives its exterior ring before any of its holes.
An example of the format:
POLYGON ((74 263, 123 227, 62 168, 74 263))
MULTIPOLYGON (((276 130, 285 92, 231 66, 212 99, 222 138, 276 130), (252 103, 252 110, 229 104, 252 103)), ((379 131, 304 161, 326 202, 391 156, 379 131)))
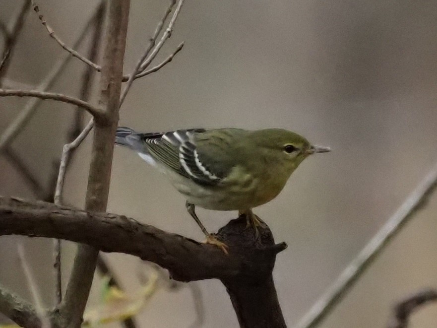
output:
POLYGON ((404 200, 358 256, 344 269, 337 280, 312 306, 296 328, 313 328, 319 324, 339 303, 376 257, 385 249, 403 226, 422 209, 437 187, 437 165, 404 200))

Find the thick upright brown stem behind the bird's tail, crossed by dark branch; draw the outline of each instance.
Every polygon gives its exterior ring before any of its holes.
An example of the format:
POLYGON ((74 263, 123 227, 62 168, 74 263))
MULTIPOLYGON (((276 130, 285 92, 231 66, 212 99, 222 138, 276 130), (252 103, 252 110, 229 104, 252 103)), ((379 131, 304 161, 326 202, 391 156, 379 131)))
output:
MULTIPOLYGON (((129 0, 109 2, 100 93, 100 105, 106 109, 108 120, 105 122, 96 120, 95 122, 85 199, 85 208, 88 211, 105 211, 108 201, 115 132, 119 119, 129 5, 129 0)), ((98 250, 93 247, 78 246, 73 270, 60 309, 65 327, 80 327, 94 277, 98 253, 98 250)))

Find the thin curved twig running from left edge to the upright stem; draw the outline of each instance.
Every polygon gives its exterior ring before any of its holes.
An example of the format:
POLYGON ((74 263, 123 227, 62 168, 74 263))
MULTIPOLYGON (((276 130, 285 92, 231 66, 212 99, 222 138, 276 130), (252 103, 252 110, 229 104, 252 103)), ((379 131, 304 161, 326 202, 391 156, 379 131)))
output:
POLYGON ((105 117, 105 113, 101 108, 95 107, 86 101, 74 97, 66 96, 60 93, 43 92, 43 91, 36 91, 36 90, 0 89, 0 97, 8 97, 8 96, 36 97, 40 99, 51 99, 51 100, 61 101, 63 103, 73 104, 85 109, 96 119, 101 119, 105 117))

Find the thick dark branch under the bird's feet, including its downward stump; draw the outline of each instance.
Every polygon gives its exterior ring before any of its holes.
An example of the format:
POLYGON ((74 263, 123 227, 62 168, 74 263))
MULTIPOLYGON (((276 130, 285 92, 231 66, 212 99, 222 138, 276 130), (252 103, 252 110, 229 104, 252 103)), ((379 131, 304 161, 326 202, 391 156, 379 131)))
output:
POLYGON ((4 234, 62 238, 104 252, 134 255, 168 269, 179 281, 217 278, 231 296, 241 327, 265 328, 265 323, 269 328, 286 327, 272 270, 276 255, 287 245, 275 245, 267 226, 259 229, 259 238, 253 238, 245 217, 219 230, 218 238, 229 246, 225 255, 212 245, 122 215, 0 197, 0 235, 4 234))

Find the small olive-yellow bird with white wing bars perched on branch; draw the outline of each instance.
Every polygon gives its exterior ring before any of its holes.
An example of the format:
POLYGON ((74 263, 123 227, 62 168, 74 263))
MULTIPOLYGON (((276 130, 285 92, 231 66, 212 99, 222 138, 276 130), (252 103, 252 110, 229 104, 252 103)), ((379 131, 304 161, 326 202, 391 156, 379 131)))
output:
POLYGON ((206 243, 228 254, 228 246, 210 234, 195 212, 237 210, 255 233, 263 222, 252 208, 279 195, 304 159, 330 148, 312 145, 284 129, 187 129, 141 133, 126 127, 115 143, 134 150, 158 168, 186 198, 186 208, 206 236, 206 243))

